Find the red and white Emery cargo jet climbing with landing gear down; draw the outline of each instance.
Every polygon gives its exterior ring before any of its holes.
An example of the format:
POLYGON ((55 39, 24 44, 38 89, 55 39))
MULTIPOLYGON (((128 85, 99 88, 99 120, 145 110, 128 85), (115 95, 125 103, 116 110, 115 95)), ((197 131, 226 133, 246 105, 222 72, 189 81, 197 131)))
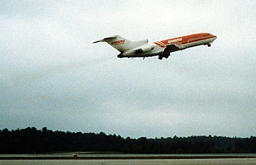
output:
POLYGON ((117 55, 118 58, 143 57, 144 60, 145 57, 158 55, 159 60, 162 60, 163 57, 168 58, 170 53, 174 51, 184 50, 199 45, 207 45, 210 47, 211 43, 216 38, 215 35, 210 33, 198 33, 148 43, 148 39, 129 41, 119 35, 113 35, 93 43, 107 42, 109 45, 120 51, 120 54, 117 55))

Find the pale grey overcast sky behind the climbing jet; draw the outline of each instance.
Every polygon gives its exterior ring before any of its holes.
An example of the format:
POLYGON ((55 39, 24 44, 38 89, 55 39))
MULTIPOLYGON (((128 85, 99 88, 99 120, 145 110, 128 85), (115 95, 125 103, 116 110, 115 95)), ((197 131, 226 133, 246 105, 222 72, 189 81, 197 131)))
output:
POLYGON ((256 1, 0 1, 0 129, 256 136, 256 1), (111 35, 208 32, 211 47, 117 58, 111 35))

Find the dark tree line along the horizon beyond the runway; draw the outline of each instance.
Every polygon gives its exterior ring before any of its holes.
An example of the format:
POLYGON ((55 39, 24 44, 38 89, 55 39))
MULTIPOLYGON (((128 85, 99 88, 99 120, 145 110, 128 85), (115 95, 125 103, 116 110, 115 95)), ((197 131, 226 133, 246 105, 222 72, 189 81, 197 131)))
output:
POLYGON ((0 130, 0 154, 38 154, 65 151, 110 151, 139 154, 256 153, 256 137, 191 136, 123 138, 105 133, 74 133, 27 127, 0 130))

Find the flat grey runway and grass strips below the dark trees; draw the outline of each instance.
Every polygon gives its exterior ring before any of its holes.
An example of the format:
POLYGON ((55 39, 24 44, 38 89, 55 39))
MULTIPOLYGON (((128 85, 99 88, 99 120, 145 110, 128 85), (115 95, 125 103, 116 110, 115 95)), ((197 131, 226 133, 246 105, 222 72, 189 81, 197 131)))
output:
POLYGON ((46 154, 0 155, 0 165, 255 165, 256 154, 46 154))

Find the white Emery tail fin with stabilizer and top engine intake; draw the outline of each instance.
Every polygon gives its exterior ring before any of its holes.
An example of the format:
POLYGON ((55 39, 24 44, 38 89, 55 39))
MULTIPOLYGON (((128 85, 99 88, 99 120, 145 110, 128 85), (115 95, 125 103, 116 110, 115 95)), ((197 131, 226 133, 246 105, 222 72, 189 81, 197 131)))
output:
POLYGON ((121 53, 124 53, 125 51, 131 50, 135 47, 146 44, 148 40, 130 41, 128 39, 121 37, 120 35, 113 35, 113 36, 101 39, 99 41, 95 41, 93 43, 97 43, 97 42, 107 42, 110 46, 114 47, 116 50, 120 51, 121 53))

